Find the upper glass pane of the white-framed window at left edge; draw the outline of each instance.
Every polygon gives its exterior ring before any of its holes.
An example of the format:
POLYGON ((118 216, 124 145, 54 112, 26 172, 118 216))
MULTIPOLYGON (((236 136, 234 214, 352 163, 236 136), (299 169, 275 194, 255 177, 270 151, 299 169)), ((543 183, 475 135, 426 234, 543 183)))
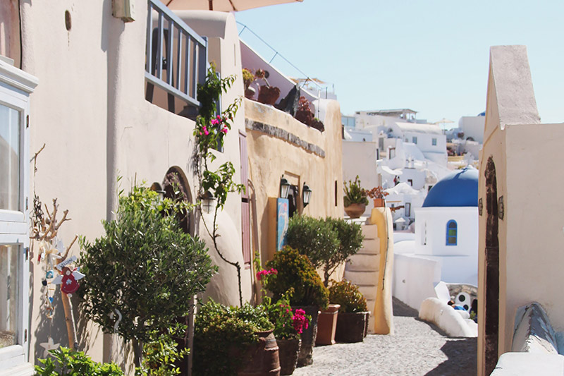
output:
POLYGON ((0 209, 20 208, 20 112, 0 104, 0 209))

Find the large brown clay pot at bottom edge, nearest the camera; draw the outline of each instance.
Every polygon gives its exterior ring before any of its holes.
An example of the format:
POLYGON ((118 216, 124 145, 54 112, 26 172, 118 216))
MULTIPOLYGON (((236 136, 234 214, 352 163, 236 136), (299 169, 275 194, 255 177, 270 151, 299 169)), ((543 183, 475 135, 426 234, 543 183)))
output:
POLYGON ((278 344, 271 330, 257 332, 259 343, 247 348, 243 355, 243 368, 238 376, 276 376, 280 375, 278 344))

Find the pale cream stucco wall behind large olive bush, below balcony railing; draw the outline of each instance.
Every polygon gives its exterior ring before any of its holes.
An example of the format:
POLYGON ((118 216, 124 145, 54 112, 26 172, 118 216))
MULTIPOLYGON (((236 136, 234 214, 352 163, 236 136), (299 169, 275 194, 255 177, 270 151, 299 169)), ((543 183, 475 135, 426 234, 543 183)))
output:
MULTIPOLYGON (((145 24, 147 3, 135 1, 133 23, 111 16, 111 1, 59 1, 56 4, 22 2, 23 70, 39 78, 31 97, 30 130, 33 154, 45 143, 37 159, 32 187, 44 202, 59 198, 61 209, 73 220, 61 227, 63 241, 74 234, 93 240, 102 235, 100 221, 111 219, 116 207, 116 178, 121 188, 136 179, 161 182, 170 166, 179 166, 190 183, 197 183, 191 167, 194 122, 145 101, 145 24), (65 28, 65 11, 71 13, 72 28, 65 28)), ((233 15, 223 18, 224 38, 210 38, 213 56, 222 75, 238 73, 238 37, 233 15), (235 51, 235 54, 234 54, 235 51), (228 56, 223 59, 223 56, 228 56), (235 61, 234 61, 235 59, 235 61)), ((226 105, 243 94, 235 83, 223 98, 226 105)), ((235 119, 226 138, 225 152, 214 165, 231 160, 240 179, 238 130, 244 128, 244 111, 235 119)), ((243 262, 240 247, 240 196, 233 194, 218 222, 223 251, 230 260, 243 262)), ((200 236, 211 241, 200 225, 200 236)), ((73 247, 78 255, 78 245, 73 247)), ((210 284, 208 295, 222 303, 238 303, 236 273, 212 250, 210 255, 220 274, 210 284)), ((49 325, 42 313, 44 275, 32 255, 30 361, 42 356, 39 343, 47 341, 49 325)), ((244 298, 250 298, 250 271, 243 271, 244 298)), ((63 309, 56 302, 51 328, 55 342, 66 344, 63 309)), ((81 348, 94 360, 108 360, 109 337, 92 324, 79 328, 81 348), (87 328, 87 329, 85 329, 87 328)))

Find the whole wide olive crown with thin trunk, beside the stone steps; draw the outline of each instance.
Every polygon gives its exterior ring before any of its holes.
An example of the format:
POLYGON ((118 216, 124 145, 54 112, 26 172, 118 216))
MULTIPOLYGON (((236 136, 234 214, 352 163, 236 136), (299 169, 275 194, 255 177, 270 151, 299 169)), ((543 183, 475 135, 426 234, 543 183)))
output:
POLYGON ((362 247, 360 225, 344 219, 294 216, 288 223, 286 243, 307 255, 314 267, 323 269, 324 285, 335 269, 362 247))

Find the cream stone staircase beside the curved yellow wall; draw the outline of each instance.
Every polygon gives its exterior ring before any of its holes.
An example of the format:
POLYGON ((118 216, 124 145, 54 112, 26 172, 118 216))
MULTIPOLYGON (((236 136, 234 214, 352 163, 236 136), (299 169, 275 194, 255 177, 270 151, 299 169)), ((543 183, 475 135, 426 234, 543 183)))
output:
POLYGON ((374 332, 374 304, 376 303, 376 291, 378 285, 378 274, 380 266, 380 240, 378 238, 378 226, 375 224, 362 224, 362 248, 356 255, 350 257, 345 265, 345 279, 359 286, 360 292, 367 300, 370 311, 368 332, 374 332))

